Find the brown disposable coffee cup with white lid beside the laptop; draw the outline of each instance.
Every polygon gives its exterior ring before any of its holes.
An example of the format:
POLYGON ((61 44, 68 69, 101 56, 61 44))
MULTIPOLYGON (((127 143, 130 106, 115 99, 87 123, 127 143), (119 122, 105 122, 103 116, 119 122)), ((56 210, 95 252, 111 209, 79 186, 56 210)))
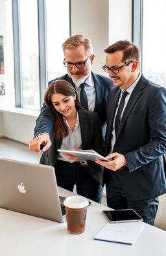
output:
POLYGON ((64 201, 67 221, 67 231, 71 234, 81 234, 85 230, 86 211, 88 207, 86 197, 74 195, 64 201))

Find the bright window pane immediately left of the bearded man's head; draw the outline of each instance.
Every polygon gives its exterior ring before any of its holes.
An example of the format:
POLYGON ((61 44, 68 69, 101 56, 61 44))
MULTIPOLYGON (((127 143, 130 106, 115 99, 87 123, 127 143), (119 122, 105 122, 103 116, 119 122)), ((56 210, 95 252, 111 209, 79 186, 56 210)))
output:
POLYGON ((62 44, 69 37, 69 1, 47 0, 46 10, 47 68, 50 81, 66 73, 62 44))

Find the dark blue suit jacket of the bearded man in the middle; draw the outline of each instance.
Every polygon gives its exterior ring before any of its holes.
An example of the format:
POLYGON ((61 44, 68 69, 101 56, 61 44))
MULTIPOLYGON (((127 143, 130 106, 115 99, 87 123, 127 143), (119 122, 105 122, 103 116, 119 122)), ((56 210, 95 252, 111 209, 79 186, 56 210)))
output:
MULTIPOLYGON (((94 111, 98 113, 99 118, 101 120, 101 124, 104 124, 104 122, 106 122, 106 102, 108 94, 110 92, 110 88, 113 87, 113 82, 112 79, 106 78, 106 76, 100 76, 98 74, 94 74, 93 72, 91 72, 91 75, 93 77, 96 90, 96 102, 94 111)), ((58 79, 64 79, 66 81, 69 81, 69 83, 71 83, 73 87, 75 87, 73 80, 68 76, 68 74, 65 74, 60 78, 56 78, 52 81, 49 81, 49 84, 58 79)), ((40 116, 36 120, 36 127, 34 128, 34 137, 36 137, 36 135, 38 134, 42 134, 43 132, 51 134, 53 126, 54 113, 49 107, 43 104, 40 116)))

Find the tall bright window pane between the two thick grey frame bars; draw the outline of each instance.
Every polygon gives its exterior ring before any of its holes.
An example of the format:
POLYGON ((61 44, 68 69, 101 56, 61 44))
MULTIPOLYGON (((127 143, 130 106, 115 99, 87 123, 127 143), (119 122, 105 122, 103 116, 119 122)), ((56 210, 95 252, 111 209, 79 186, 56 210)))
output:
POLYGON ((37 0, 19 0, 22 107, 38 110, 39 48, 38 48, 38 3, 37 0))

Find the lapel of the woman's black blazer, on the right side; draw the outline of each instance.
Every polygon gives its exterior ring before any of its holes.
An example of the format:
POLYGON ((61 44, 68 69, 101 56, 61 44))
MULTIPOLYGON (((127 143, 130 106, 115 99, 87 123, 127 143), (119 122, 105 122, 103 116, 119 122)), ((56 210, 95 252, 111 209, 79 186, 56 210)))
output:
POLYGON ((78 109, 78 117, 80 121, 80 134, 82 139, 82 149, 85 149, 87 145, 87 134, 88 134, 88 120, 86 115, 84 115, 84 110, 78 109))

